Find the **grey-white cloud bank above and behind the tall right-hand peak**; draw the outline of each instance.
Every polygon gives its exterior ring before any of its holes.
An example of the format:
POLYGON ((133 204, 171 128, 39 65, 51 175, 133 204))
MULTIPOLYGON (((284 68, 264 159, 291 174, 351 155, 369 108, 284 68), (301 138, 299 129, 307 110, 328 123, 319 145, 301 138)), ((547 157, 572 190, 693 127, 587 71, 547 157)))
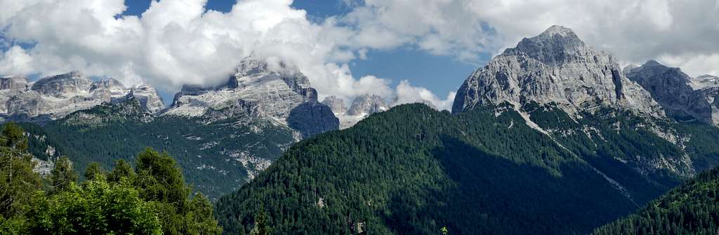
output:
POLYGON ((693 75, 719 67, 698 59, 719 56, 714 0, 365 0, 339 19, 356 32, 354 45, 412 45, 474 64, 559 24, 626 62, 672 58, 693 75))

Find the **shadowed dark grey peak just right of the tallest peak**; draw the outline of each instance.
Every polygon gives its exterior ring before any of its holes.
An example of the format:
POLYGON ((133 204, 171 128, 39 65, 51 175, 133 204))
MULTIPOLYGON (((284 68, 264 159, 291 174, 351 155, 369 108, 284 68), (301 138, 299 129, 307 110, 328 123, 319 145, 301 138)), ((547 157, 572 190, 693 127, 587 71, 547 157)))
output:
POLYGON ((627 77, 649 91, 667 115, 677 120, 712 122, 712 108, 704 92, 692 89, 691 78, 681 69, 650 60, 628 71, 627 77))

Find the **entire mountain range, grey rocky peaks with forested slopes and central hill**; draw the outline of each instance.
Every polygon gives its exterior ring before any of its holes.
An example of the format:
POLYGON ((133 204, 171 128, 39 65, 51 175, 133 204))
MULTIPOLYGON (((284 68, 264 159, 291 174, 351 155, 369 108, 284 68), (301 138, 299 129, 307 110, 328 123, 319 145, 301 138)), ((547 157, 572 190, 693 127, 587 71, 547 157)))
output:
POLYGON ((150 85, 81 72, 0 77, 0 115, 45 166, 167 151, 226 234, 252 231, 260 211, 280 234, 602 233, 719 165, 719 77, 618 61, 553 26, 472 72, 451 112, 320 102, 297 67, 247 57, 167 107, 150 85))

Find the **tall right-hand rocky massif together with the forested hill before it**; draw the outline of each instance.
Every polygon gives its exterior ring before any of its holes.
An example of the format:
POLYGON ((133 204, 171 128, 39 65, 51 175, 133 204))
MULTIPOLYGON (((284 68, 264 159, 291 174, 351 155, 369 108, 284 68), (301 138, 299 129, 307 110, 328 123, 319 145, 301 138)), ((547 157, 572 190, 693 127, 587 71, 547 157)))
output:
POLYGON ((260 208, 280 234, 586 234, 717 165, 695 81, 551 27, 473 72, 452 113, 400 105, 293 145, 216 214, 230 234, 260 208))

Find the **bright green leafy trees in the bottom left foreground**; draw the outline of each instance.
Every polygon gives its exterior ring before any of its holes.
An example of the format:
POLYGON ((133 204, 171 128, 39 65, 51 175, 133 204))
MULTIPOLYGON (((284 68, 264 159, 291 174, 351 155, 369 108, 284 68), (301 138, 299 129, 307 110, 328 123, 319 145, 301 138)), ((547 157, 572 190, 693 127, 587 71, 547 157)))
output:
POLYGON ((221 234, 212 204, 191 194, 175 160, 147 148, 134 167, 91 163, 78 181, 66 157, 49 176, 32 171, 27 138, 7 123, 0 135, 0 234, 221 234))

